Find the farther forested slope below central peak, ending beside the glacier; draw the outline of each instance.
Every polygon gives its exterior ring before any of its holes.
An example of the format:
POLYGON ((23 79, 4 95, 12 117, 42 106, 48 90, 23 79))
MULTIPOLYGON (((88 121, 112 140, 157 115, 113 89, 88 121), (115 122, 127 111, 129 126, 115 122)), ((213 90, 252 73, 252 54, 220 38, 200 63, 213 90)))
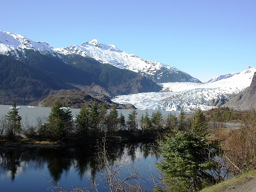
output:
MULTIPOLYGON (((102 64, 92 58, 79 55, 63 56, 62 59, 76 68, 89 72, 98 79, 99 85, 108 87, 114 95, 160 91, 161 88, 149 78, 126 69, 102 64)), ((97 84, 97 82, 94 82, 97 84)))

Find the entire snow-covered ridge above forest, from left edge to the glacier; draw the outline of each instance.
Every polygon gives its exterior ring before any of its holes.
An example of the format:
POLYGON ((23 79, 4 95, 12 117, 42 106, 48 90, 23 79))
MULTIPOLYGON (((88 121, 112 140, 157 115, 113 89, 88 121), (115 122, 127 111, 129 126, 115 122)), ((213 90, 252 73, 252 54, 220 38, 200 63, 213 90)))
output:
POLYGON ((111 44, 101 44, 94 39, 84 42, 80 46, 72 45, 65 48, 53 48, 46 42, 34 42, 22 35, 0 30, 0 54, 15 55, 19 58, 19 52, 24 49, 38 50, 42 54, 50 53, 54 56, 61 54, 78 54, 84 57, 92 57, 101 63, 111 64, 118 68, 128 69, 143 76, 151 78, 154 82, 199 82, 189 74, 175 67, 156 61, 148 61, 139 58, 135 54, 128 54, 111 44))

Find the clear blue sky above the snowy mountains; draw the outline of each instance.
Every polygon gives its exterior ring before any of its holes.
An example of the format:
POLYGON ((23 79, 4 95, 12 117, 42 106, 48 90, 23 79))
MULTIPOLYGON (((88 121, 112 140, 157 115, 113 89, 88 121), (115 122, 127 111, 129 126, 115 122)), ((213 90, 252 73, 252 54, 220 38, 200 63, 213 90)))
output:
POLYGON ((255 0, 2 0, 0 29, 65 47, 94 38, 200 79, 256 67, 255 0))

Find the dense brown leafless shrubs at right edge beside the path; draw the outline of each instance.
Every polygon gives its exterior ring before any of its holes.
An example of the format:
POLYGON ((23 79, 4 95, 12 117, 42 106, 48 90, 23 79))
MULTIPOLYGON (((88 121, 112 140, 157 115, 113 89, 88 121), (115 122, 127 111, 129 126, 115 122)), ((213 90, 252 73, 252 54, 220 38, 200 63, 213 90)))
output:
POLYGON ((241 128, 222 129, 218 132, 225 158, 233 174, 256 168, 256 112, 251 110, 242 114, 241 128))

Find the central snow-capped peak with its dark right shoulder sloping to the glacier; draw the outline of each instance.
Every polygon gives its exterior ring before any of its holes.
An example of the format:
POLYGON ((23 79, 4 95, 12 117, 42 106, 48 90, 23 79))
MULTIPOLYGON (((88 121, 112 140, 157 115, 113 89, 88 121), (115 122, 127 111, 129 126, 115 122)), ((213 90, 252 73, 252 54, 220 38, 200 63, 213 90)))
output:
POLYGON ((119 50, 115 45, 101 44, 96 39, 85 42, 81 46, 72 45, 54 50, 61 54, 90 56, 101 63, 108 63, 118 68, 128 69, 150 77, 158 83, 174 81, 200 82, 198 79, 175 67, 160 62, 144 60, 135 54, 128 54, 125 51, 119 50))

